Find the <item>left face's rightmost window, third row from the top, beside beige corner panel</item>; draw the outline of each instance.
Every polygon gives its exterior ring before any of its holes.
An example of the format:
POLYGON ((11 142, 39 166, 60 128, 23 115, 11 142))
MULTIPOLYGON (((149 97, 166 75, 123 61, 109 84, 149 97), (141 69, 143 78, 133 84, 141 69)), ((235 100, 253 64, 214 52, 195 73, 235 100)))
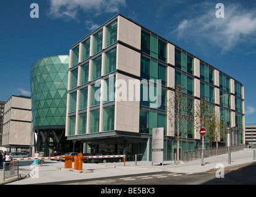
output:
POLYGON ((104 103, 114 101, 116 76, 111 76, 105 80, 104 103))

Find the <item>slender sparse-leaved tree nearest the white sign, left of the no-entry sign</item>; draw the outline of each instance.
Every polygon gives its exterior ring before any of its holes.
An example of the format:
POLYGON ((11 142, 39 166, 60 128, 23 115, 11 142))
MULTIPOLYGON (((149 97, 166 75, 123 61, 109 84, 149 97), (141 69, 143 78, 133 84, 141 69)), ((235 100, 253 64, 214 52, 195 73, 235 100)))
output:
POLYGON ((169 135, 177 140, 177 163, 179 163, 179 140, 187 137, 188 129, 194 125, 193 99, 184 94, 184 87, 177 83, 175 92, 169 92, 168 98, 169 135))

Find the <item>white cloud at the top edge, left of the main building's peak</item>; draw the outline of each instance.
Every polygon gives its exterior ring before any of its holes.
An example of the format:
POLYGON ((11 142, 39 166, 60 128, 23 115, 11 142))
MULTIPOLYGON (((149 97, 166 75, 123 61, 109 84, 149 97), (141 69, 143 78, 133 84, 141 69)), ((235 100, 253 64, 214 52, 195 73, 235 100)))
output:
POLYGON ((90 15, 118 12, 120 6, 126 6, 126 0, 49 0, 49 15, 54 18, 77 20, 82 11, 90 15))

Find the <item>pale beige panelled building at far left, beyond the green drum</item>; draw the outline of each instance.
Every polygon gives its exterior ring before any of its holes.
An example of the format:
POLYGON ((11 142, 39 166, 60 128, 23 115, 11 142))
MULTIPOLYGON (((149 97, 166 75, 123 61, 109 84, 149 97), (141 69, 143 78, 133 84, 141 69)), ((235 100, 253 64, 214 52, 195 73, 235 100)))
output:
POLYGON ((31 98, 12 95, 4 105, 2 147, 8 151, 30 151, 31 98))

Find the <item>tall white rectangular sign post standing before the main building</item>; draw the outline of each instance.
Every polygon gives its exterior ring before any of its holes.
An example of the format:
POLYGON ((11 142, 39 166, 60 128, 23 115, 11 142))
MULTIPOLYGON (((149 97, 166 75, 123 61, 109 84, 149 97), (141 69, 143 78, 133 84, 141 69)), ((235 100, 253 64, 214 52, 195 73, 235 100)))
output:
POLYGON ((164 128, 152 129, 152 166, 153 163, 163 165, 163 150, 164 150, 164 128))

